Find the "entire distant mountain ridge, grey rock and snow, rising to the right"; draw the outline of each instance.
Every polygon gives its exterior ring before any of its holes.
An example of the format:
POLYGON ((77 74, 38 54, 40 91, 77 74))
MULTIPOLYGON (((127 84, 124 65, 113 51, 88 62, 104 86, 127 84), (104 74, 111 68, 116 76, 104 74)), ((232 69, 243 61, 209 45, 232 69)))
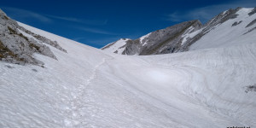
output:
POLYGON ((119 40, 102 49, 122 55, 159 55, 251 43, 256 40, 255 10, 229 9, 205 25, 199 20, 186 21, 135 40, 119 40))

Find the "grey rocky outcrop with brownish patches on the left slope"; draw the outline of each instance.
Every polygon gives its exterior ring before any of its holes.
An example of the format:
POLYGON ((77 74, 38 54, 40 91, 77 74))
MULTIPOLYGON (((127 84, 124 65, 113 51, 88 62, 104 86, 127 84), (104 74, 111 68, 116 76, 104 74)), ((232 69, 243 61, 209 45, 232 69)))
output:
POLYGON ((36 34, 26 30, 22 26, 19 26, 15 20, 11 20, 1 9, 0 9, 0 61, 8 61, 15 64, 24 65, 34 64, 43 66, 44 62, 38 61, 32 55, 38 53, 41 55, 49 56, 57 60, 56 56, 52 51, 43 43, 50 44, 56 49, 62 49, 56 42, 49 40, 38 35, 39 43, 34 38, 27 38, 23 35, 19 29, 23 32, 31 34, 33 37, 36 34))

